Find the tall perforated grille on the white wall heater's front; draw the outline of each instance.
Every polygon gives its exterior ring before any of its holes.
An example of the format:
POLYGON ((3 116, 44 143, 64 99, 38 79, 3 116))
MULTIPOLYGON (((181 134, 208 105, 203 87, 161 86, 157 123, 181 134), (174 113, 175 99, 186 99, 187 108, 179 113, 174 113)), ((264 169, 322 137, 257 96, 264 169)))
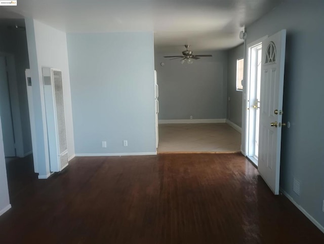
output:
MULTIPOLYGON (((53 79, 54 79, 54 93, 55 93, 56 116, 57 116, 57 130, 58 130, 59 146, 60 146, 60 154, 61 154, 62 152, 67 150, 62 72, 59 70, 53 70, 53 79)), ((61 166, 62 166, 62 159, 61 159, 61 166)))

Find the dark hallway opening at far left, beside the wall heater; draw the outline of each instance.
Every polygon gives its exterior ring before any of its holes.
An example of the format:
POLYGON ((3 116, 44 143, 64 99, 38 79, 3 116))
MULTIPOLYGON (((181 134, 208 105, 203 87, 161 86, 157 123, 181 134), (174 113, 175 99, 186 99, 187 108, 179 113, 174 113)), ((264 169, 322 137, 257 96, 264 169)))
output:
POLYGON ((25 69, 29 68, 23 18, 0 20, 0 121, 11 204, 34 173, 25 69))

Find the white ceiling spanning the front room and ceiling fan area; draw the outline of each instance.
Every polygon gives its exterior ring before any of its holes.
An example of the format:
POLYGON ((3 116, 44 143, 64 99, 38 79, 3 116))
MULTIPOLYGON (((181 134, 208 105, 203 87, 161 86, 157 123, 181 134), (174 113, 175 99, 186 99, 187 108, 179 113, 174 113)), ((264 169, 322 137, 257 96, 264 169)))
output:
MULTIPOLYGON (((155 49, 228 49, 239 31, 283 0, 18 0, 0 7, 66 32, 154 31, 155 49)), ((14 16, 12 18, 17 18, 14 16)), ((131 40, 130 40, 131 42, 131 40)))

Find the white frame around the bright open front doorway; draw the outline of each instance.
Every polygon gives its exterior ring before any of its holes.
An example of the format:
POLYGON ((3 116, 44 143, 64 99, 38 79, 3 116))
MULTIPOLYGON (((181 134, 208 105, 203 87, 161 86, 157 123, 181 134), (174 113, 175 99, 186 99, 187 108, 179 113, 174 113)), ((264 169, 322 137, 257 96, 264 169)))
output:
MULTIPOLYGON (((246 50, 245 50, 245 60, 246 60, 246 65, 244 68, 245 71, 245 94, 246 94, 246 99, 244 101, 244 111, 242 111, 242 114, 245 114, 245 141, 244 141, 244 155, 250 158, 249 155, 249 141, 250 141, 250 63, 251 63, 251 57, 250 57, 250 50, 259 45, 262 44, 263 41, 268 38, 268 35, 265 35, 254 42, 251 42, 247 45, 246 50)), ((253 161, 253 158, 250 158, 253 161)), ((253 161, 253 164, 256 164, 255 161, 253 161)))

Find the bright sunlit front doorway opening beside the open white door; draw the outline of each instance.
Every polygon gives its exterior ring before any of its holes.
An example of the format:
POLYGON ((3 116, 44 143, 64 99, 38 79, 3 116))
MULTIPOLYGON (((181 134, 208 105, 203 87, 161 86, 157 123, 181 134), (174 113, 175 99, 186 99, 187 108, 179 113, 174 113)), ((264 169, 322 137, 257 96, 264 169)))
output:
POLYGON ((247 156, 258 166, 262 42, 248 46, 247 156))

